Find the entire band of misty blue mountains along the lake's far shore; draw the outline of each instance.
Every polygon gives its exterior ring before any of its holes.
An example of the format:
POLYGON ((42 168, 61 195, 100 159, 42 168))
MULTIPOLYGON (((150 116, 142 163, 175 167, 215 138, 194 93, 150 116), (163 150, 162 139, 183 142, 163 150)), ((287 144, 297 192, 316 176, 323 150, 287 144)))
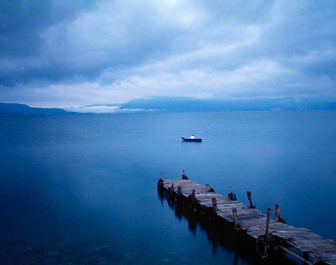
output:
POLYGON ((94 104, 80 108, 30 107, 18 103, 0 103, 0 116, 67 115, 90 113, 179 113, 226 111, 328 111, 336 110, 336 102, 315 97, 284 97, 254 99, 194 99, 190 97, 150 97, 132 99, 120 104, 94 104), (95 106, 107 106, 103 111, 95 106))

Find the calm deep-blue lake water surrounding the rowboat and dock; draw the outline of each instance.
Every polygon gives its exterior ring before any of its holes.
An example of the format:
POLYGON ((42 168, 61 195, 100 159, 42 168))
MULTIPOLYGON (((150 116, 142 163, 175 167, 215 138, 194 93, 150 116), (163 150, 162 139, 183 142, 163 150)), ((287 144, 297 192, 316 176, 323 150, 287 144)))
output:
POLYGON ((0 128, 1 264, 259 264, 158 195, 160 171, 182 169, 336 240, 336 112, 0 117, 0 128), (203 142, 181 141, 191 134, 203 142))

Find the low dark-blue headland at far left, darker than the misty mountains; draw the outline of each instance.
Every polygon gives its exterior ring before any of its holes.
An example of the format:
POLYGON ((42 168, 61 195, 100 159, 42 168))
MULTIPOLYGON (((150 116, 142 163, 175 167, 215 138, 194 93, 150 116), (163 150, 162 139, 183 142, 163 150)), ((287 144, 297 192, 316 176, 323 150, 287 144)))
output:
POLYGON ((25 115, 64 115, 78 114, 77 112, 68 112, 62 108, 39 108, 30 107, 26 104, 18 103, 0 103, 0 116, 25 116, 25 115))

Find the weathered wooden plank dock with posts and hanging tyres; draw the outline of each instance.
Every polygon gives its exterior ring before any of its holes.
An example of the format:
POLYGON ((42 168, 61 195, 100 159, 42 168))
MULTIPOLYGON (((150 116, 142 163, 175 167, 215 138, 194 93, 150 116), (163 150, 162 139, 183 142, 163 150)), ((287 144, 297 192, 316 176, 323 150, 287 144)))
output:
MULTIPOLYGON (((184 171, 183 177, 186 177, 184 171)), ((182 205, 188 201, 188 196, 194 196, 198 202, 198 209, 202 207, 203 209, 213 209, 216 220, 232 223, 237 233, 246 233, 253 237, 256 239, 256 244, 261 238, 261 246, 264 246, 264 253, 261 254, 261 258, 266 258, 271 250, 281 249, 306 264, 336 265, 335 241, 314 234, 306 228, 282 223, 279 205, 275 205, 276 220, 272 220, 270 219, 270 208, 267 209, 267 215, 258 209, 253 209, 255 207, 253 207, 251 192, 249 191, 247 191, 247 196, 250 206, 246 206, 238 201, 230 200, 227 196, 210 191, 209 184, 203 186, 188 179, 163 180, 161 172, 158 189, 166 190, 168 193, 168 189, 170 192, 175 188, 181 191, 179 202, 182 205), (170 188, 172 185, 173 187, 170 188)), ((229 187, 230 198, 233 194, 231 192, 231 187, 229 187)), ((196 212, 196 209, 194 211, 196 212)))

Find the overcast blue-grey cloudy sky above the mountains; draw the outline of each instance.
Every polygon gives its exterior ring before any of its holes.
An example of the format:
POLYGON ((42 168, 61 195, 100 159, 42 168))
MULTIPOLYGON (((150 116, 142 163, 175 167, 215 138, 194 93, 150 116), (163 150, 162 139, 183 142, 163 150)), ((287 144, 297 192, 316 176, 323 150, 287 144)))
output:
POLYGON ((336 1, 1 1, 0 102, 336 99, 336 1))

